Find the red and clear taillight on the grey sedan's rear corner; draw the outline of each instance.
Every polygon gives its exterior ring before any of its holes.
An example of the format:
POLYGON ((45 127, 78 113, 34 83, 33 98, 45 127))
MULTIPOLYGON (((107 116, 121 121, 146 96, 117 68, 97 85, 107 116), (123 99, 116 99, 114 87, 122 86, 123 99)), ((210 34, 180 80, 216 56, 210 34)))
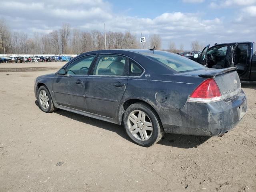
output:
POLYGON ((212 102, 222 100, 222 96, 215 80, 210 78, 203 81, 192 92, 188 101, 193 102, 212 102))

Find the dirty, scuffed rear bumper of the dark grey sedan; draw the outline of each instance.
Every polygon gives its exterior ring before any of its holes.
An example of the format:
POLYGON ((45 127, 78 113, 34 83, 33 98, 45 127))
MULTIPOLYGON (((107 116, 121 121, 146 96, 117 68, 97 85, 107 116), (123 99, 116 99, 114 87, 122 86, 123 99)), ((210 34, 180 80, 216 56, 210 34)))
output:
MULTIPOLYGON (((158 109, 156 109, 158 110, 158 109)), ((166 133, 220 136, 234 128, 247 112, 246 94, 241 92, 230 102, 187 102, 179 110, 158 110, 166 133)))

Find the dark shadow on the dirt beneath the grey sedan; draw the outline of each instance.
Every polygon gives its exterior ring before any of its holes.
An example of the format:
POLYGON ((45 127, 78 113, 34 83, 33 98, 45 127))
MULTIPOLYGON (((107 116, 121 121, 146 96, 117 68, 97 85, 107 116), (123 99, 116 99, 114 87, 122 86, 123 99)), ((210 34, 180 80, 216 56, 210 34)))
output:
MULTIPOLYGON (((38 108, 40 108, 37 100, 35 101, 35 104, 38 106, 38 108)), ((115 132, 116 134, 120 135, 122 138, 132 142, 132 140, 126 134, 126 131, 123 126, 110 123, 110 122, 105 122, 98 119, 94 119, 94 118, 90 118, 90 117, 76 114, 73 112, 68 112, 61 109, 58 109, 55 113, 71 118, 72 120, 80 121, 85 124, 90 124, 91 126, 96 126, 108 131, 115 132)), ((199 146, 200 144, 203 144, 209 138, 210 137, 203 137, 203 136, 165 134, 162 140, 160 140, 157 144, 177 147, 177 148, 197 148, 197 146, 199 146)))

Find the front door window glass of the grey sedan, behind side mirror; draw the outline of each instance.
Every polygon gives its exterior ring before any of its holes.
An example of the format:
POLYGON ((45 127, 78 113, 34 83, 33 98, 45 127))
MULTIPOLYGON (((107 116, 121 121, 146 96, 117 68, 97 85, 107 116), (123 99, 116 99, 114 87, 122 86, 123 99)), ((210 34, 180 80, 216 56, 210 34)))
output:
POLYGON ((66 67, 66 74, 69 75, 87 75, 90 65, 96 55, 81 57, 66 67))

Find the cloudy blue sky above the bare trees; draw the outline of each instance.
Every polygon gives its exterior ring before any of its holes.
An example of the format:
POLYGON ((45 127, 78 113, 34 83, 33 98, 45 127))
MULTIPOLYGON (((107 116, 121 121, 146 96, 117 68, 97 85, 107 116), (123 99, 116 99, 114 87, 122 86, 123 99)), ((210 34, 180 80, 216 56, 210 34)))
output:
POLYGON ((256 42, 256 0, 0 0, 0 18, 10 28, 47 34, 68 22, 82 31, 159 34, 170 42, 190 44, 256 42))

